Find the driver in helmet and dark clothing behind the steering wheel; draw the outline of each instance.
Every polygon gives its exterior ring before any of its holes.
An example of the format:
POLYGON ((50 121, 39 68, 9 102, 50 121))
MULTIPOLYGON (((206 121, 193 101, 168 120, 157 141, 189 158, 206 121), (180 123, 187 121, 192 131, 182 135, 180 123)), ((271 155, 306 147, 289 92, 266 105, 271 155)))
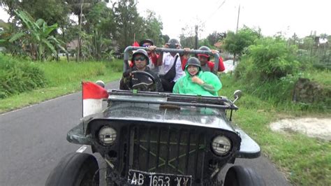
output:
POLYGON ((133 67, 125 71, 123 73, 123 77, 119 80, 120 90, 131 90, 143 85, 145 87, 142 89, 140 88, 140 90, 163 92, 163 87, 159 76, 157 76, 147 66, 149 64, 149 57, 145 50, 138 49, 135 51, 132 55, 131 62, 133 62, 133 67), (149 78, 149 76, 142 73, 136 73, 133 75, 134 71, 145 71, 149 73, 154 77, 155 83, 153 83, 153 80, 149 78))

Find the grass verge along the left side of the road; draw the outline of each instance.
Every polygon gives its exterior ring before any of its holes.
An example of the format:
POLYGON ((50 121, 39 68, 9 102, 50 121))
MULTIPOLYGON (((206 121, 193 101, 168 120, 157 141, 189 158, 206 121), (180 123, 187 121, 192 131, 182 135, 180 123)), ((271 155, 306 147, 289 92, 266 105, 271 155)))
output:
POLYGON ((36 62, 45 72, 45 87, 0 99, 0 113, 4 113, 65 94, 78 92, 81 82, 117 80, 122 75, 122 60, 113 62, 36 62))

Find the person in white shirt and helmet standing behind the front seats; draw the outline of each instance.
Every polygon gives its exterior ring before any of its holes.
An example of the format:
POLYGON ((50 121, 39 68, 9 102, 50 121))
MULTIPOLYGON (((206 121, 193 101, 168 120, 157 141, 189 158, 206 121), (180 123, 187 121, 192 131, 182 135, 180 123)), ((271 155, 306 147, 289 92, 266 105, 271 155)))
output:
MULTIPOLYGON (((180 47, 179 41, 175 38, 170 38, 168 43, 165 43, 165 48, 179 49, 180 47)), ((173 52, 161 52, 158 58, 158 66, 164 92, 172 92, 175 82, 185 75, 179 54, 173 52)))

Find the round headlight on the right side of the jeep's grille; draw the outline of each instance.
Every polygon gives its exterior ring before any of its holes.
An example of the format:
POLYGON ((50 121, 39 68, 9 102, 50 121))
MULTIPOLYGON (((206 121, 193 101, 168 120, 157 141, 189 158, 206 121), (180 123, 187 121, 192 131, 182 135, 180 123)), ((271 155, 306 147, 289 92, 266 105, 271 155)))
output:
POLYGON ((215 155, 224 157, 230 153, 231 149, 233 148, 233 143, 230 138, 228 138, 228 136, 219 134, 212 138, 211 148, 215 155), (218 143, 216 140, 218 140, 218 143), (220 147, 219 144, 223 146, 220 147))

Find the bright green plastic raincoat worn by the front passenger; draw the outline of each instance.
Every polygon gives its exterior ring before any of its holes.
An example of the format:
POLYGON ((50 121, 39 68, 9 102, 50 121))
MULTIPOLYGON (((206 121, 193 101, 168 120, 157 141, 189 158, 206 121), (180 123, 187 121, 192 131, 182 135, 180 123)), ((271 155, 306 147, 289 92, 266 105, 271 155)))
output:
POLYGON ((198 78, 205 82, 203 85, 198 83, 193 83, 191 80, 191 75, 187 71, 187 66, 185 67, 186 76, 182 76, 175 83, 172 90, 176 94, 192 94, 201 96, 218 96, 217 92, 221 90, 222 83, 214 73, 208 71, 199 71, 196 75, 198 78))

